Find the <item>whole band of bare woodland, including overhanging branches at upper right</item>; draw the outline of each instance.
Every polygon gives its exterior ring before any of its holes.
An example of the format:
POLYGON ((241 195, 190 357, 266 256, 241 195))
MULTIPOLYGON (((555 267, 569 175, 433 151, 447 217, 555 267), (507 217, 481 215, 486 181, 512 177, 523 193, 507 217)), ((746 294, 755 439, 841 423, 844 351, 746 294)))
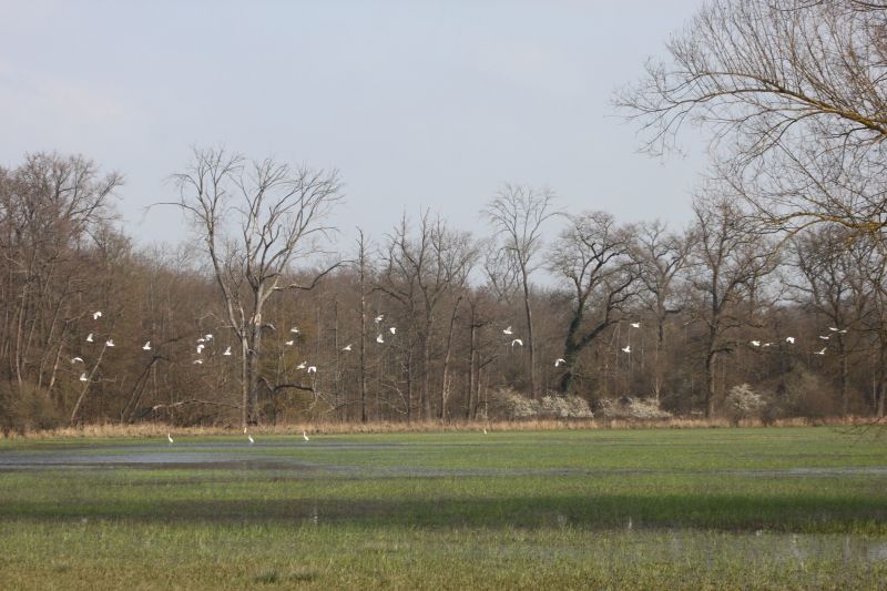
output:
POLYGON ((681 228, 503 184, 486 236, 426 211, 346 244, 336 171, 197 150, 196 242, 142 249, 119 175, 28 155, 0 169, 2 426, 468 420, 508 390, 713 416, 742 384, 883 417, 885 31, 876 2, 706 3, 616 99, 651 152, 711 133, 681 228))

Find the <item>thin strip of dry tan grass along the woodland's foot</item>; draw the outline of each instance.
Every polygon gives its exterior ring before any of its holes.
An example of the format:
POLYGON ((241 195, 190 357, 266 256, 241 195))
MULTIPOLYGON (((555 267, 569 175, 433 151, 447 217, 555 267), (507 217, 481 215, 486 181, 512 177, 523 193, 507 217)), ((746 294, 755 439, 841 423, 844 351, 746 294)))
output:
MULTIPOLYGON (((804 427, 804 426, 833 426, 855 427, 873 424, 871 417, 833 417, 833 418, 792 418, 774 421, 773 427, 804 427)), ((671 418, 655 421, 640 420, 523 420, 523 421, 460 421, 440 422, 297 422, 292 425, 262 425, 249 428, 256 435, 299 435, 303 430, 308 434, 347 435, 347 434, 387 434, 387 432, 443 432, 443 431, 550 431, 572 429, 712 429, 732 427, 724 418, 687 419, 671 418)), ((740 421, 740 427, 766 426, 759 420, 740 421)), ((172 427, 162 422, 143 422, 137 425, 83 425, 79 427, 63 427, 41 431, 30 431, 26 435, 10 434, 8 438, 50 439, 50 438, 151 438, 164 437, 167 432, 182 436, 213 436, 233 435, 242 432, 234 427, 172 427)), ((2 437, 2 436, 0 436, 2 437)))

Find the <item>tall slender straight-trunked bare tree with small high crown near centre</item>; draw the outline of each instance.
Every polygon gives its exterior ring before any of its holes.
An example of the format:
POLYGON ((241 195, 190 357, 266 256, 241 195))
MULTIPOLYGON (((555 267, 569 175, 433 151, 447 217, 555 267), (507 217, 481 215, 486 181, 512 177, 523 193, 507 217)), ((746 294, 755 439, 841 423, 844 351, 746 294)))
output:
POLYGON ((537 190, 531 186, 506 184, 483 210, 493 224, 497 235, 502 240, 502 254, 512 262, 522 291, 530 387, 534 397, 539 395, 539 380, 530 304, 530 275, 539 265, 536 255, 542 247, 542 225, 547 220, 558 215, 558 212, 551 208, 554 198, 554 192, 550 188, 537 190))

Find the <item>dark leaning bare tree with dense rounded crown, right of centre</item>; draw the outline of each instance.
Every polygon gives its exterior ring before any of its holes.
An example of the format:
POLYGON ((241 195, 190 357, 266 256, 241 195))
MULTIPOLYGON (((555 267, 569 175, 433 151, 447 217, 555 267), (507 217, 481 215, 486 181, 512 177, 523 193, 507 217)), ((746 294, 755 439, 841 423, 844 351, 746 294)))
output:
POLYGON ((549 267, 567 279, 572 292, 560 384, 564 394, 579 354, 619 322, 638 293, 640 266, 630 256, 631 240, 629 228, 616 226, 610 214, 592 212, 569 216, 569 225, 551 246, 549 267))

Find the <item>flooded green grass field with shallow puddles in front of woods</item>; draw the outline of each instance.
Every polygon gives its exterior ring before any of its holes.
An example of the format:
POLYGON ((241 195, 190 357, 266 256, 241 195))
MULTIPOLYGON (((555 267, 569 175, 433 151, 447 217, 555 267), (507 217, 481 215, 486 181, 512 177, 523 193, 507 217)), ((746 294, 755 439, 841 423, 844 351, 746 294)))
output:
POLYGON ((887 589, 829 427, 0 441, 9 589, 887 589))

